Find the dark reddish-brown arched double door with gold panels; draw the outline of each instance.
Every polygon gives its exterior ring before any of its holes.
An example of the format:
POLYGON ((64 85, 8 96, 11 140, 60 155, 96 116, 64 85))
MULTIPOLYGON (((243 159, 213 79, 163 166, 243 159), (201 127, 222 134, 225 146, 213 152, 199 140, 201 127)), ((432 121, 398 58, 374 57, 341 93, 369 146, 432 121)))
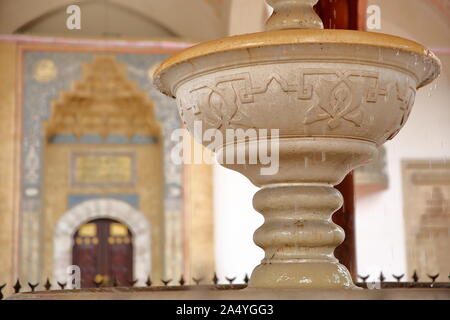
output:
POLYGON ((96 219, 78 228, 72 263, 81 269, 81 286, 129 285, 133 280, 133 236, 113 219, 96 219))

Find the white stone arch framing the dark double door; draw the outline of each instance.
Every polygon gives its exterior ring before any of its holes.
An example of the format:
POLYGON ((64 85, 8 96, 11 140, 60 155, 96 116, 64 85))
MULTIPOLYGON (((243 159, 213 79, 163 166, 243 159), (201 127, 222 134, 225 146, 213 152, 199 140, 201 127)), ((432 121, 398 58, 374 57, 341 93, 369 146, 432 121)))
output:
POLYGON ((73 235, 93 219, 109 218, 128 226, 133 234, 133 274, 143 283, 151 269, 150 224, 147 218, 128 203, 109 198, 87 200, 68 210, 54 230, 53 266, 57 281, 65 282, 66 269, 72 265, 73 235))

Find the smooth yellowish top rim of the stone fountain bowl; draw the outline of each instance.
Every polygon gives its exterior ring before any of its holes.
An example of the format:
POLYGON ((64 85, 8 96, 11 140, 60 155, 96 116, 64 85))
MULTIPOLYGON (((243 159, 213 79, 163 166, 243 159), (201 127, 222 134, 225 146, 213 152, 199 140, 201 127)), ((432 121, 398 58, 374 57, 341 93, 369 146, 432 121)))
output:
POLYGON ((161 92, 174 97, 175 93, 171 92, 171 90, 163 84, 162 78, 169 71, 183 63, 189 63, 198 58, 230 51, 307 44, 348 44, 385 48, 418 54, 423 58, 433 60, 436 66, 436 72, 433 73, 432 77, 422 79, 417 89, 433 82, 442 69, 441 61, 430 49, 405 38, 384 33, 354 30, 290 29, 243 34, 197 44, 164 60, 153 73, 153 83, 161 92))

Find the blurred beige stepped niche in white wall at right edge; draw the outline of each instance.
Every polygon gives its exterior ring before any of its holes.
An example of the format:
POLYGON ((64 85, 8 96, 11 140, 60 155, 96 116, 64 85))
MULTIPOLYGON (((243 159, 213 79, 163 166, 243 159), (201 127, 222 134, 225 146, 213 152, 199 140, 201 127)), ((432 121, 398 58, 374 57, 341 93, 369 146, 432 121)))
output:
POLYGON ((450 270, 450 164, 448 161, 403 162, 403 199, 408 271, 419 277, 450 270))

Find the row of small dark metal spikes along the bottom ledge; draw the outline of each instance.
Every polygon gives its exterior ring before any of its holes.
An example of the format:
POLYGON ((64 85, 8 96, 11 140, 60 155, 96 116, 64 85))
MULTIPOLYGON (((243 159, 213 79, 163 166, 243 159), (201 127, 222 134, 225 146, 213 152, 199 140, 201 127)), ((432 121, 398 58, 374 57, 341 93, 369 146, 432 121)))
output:
MULTIPOLYGON (((440 274, 435 275, 426 275, 424 277, 420 277, 417 272, 414 272, 414 274, 411 277, 412 281, 407 281, 408 279, 405 278, 405 274, 401 275, 395 275, 393 274, 392 277, 396 279, 395 282, 389 282, 386 281, 386 277, 384 276, 383 272, 381 272, 377 277, 376 280, 369 281, 370 275, 358 275, 358 279, 360 279, 360 282, 357 282, 356 285, 365 288, 365 289, 391 289, 391 288, 447 288, 450 289, 450 274, 447 276, 448 281, 446 282, 436 282, 436 279, 440 276, 440 274), (405 280, 405 281, 402 281, 405 280), (422 281, 421 281, 422 280, 422 281)), ((247 286, 249 277, 246 274, 245 277, 242 278, 242 282, 235 283, 236 280, 238 280, 237 277, 224 277, 224 279, 219 279, 216 273, 214 273, 214 276, 211 279, 197 279, 192 278, 192 283, 195 286, 198 285, 211 285, 213 287, 216 287, 217 289, 221 290, 238 290, 243 289, 247 286), (222 280, 222 283, 220 283, 222 280), (223 283, 225 282, 225 283, 223 283)), ((154 288, 160 288, 161 290, 167 289, 165 287, 171 287, 171 289, 175 289, 174 287, 177 287, 179 289, 183 289, 184 287, 187 287, 186 280, 183 276, 178 281, 173 281, 173 279, 160 279, 159 283, 155 283, 152 281, 150 277, 148 277, 145 281, 146 287, 154 287, 154 288)), ((239 281, 239 280, 238 280, 239 281)), ((138 283, 138 279, 134 279, 131 281, 128 281, 128 283, 119 283, 117 280, 113 279, 111 284, 105 285, 103 281, 93 281, 93 285, 96 288, 100 287, 135 287, 138 283)), ((30 283, 30 282, 24 282, 21 283, 19 279, 15 282, 14 285, 12 285, 13 292, 15 294, 21 293, 21 292, 37 292, 40 290, 36 290, 39 288, 40 283, 30 283)), ((3 294, 3 289, 7 287, 7 284, 0 285, 0 300, 2 300, 5 296, 3 294)), ((52 284, 50 282, 50 279, 47 278, 45 283, 42 285, 42 290, 45 291, 51 291, 51 290, 65 290, 67 287, 67 282, 61 283, 56 282, 55 284, 52 284)))

